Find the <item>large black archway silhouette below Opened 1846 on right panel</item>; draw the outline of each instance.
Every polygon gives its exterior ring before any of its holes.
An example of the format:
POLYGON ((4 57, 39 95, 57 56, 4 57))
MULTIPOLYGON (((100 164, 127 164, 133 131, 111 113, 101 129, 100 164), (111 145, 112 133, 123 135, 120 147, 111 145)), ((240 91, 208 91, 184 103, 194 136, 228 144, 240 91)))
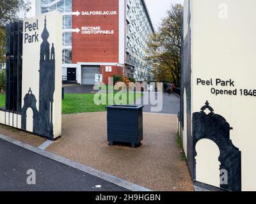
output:
POLYGON ((220 187, 230 191, 241 191, 241 152, 230 140, 230 125, 209 106, 206 101, 201 112, 193 113, 193 179, 196 180, 196 143, 209 139, 220 149, 220 170, 227 170, 228 184, 220 187))

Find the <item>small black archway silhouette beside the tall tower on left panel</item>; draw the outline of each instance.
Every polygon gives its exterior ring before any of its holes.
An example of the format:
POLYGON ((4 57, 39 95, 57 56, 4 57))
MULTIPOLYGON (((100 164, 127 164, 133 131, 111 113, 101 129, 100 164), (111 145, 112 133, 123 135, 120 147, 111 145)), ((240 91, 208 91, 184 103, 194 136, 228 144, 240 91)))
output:
POLYGON ((33 110, 33 133, 38 133, 38 110, 36 108, 36 98, 29 88, 28 94, 24 98, 24 106, 21 110, 21 129, 27 129, 27 110, 31 108, 33 110))

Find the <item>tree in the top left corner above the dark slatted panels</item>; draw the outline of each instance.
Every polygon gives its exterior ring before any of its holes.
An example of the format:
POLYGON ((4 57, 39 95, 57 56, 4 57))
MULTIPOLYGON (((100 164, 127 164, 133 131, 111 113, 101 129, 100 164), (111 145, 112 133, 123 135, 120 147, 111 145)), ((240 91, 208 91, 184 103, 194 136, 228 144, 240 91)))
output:
POLYGON ((5 24, 19 20, 19 13, 27 13, 31 7, 30 2, 24 0, 1 0, 0 1, 0 66, 5 63, 6 31, 5 24))

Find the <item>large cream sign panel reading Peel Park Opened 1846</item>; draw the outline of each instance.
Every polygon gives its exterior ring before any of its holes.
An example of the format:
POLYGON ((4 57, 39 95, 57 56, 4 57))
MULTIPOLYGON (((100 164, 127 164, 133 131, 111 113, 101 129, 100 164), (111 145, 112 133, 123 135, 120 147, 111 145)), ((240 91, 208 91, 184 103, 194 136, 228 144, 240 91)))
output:
POLYGON ((180 135, 193 179, 230 191, 256 191, 255 7, 184 3, 180 135))

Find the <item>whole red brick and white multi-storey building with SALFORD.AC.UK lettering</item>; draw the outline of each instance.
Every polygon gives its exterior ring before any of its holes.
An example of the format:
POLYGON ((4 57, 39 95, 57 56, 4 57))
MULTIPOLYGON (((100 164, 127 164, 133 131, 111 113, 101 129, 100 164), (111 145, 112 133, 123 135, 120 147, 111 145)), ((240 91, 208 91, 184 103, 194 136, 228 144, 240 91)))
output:
POLYGON ((143 61, 154 32, 144 0, 42 0, 36 8, 63 12, 64 81, 92 85, 97 77, 107 83, 123 74, 153 79, 143 61))

